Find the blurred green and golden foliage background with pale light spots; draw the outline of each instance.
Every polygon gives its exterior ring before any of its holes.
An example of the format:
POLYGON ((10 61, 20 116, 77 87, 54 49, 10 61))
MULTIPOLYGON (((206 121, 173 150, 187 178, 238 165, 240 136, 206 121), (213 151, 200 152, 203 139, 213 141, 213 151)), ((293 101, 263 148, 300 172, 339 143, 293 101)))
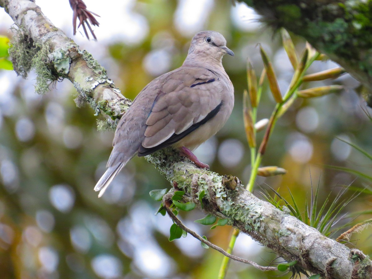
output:
MULTIPOLYGON (((87 0, 87 9, 101 16, 100 27, 94 28, 98 41, 88 41, 81 30, 73 37, 72 11, 68 1, 62 2, 58 9, 53 1, 37 0, 36 4, 67 36, 93 54, 129 99, 153 78, 179 67, 196 32, 222 33, 235 53, 235 57, 223 59, 235 87, 235 107, 224 128, 195 154, 211 170, 232 174, 247 184, 250 154, 242 115, 246 60, 250 57, 259 76, 263 68, 257 47, 260 43, 272 59, 279 86, 285 92, 293 69, 279 33, 273 34, 259 23, 259 16, 245 4, 233 6, 226 0, 87 0)), ((12 24, 1 9, 0 35, 11 37, 12 24)), ((292 39, 300 54, 305 41, 292 39)), ((336 64, 331 61, 316 61, 308 73, 333 67, 336 64)), ((154 215, 160 203, 148 193, 170 185, 143 158, 131 160, 105 195, 97 198, 93 187, 105 171, 113 131, 98 132, 93 110, 76 107, 76 90, 70 81, 51 85, 43 96, 34 92, 34 83, 33 72, 22 79, 13 71, 0 70, 0 277, 216 278, 221 254, 202 248, 190 235, 168 241, 172 222, 154 215)), ((310 85, 333 83, 343 84, 346 90, 337 96, 297 100, 279 120, 263 166, 280 166, 288 173, 258 178, 255 193, 261 191, 258 185, 264 189, 269 185, 280 187, 280 194, 290 199, 289 189, 304 209, 311 183, 320 187, 320 203, 328 195, 332 200, 344 185, 371 185, 368 180, 324 166, 372 174, 371 161, 336 138, 358 144, 372 154, 372 123, 362 108, 370 113, 371 109, 353 90, 358 82, 347 74, 310 85)), ((258 119, 268 118, 275 106, 267 87, 258 119)), ((343 213, 370 208, 371 196, 359 195, 343 213)), ((181 214, 189 228, 226 249, 231 227, 209 230, 193 222, 203 217, 198 210, 181 214)), ((357 220, 367 218, 371 217, 363 215, 357 220)), ((369 236, 365 230, 348 245, 371 253, 369 236)), ((262 265, 276 258, 270 249, 243 234, 233 254, 262 265)), ((262 273, 232 262, 227 278, 275 275, 283 273, 262 273)))

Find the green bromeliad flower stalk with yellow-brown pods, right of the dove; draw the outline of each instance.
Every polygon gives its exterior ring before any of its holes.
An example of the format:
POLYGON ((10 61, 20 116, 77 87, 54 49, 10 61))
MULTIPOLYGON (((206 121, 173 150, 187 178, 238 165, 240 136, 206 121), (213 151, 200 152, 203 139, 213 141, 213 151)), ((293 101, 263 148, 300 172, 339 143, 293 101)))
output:
MULTIPOLYGON (((285 29, 282 29, 282 39, 283 39, 283 47, 295 70, 291 83, 289 84, 289 87, 287 91, 285 92, 285 94, 282 94, 280 92, 278 81, 275 75, 275 71, 273 69, 273 65, 270 62, 270 59, 267 56, 266 52, 261 46, 260 46, 260 54, 261 54, 262 61, 264 64, 264 70, 261 73, 258 83, 257 83, 256 73, 253 69, 253 65, 251 61, 248 60, 248 64, 247 64, 248 91, 245 90, 244 95, 243 95, 243 117, 244 117, 244 126, 245 126, 245 131, 247 135, 247 141, 248 141, 248 145, 250 148, 250 156, 251 156, 251 175, 250 175, 250 179, 249 179, 249 182, 246 188, 250 192, 253 191, 254 183, 255 183, 257 175, 274 176, 274 175, 286 173, 286 170, 279 168, 277 166, 260 167, 262 158, 266 151, 267 143, 273 132, 275 124, 280 118, 280 116, 282 116, 290 108, 290 106, 294 103, 294 101, 297 98, 320 97, 320 96, 324 96, 330 93, 338 93, 338 92, 341 92, 341 90, 343 90, 343 87, 340 85, 321 86, 321 87, 314 87, 314 88, 305 89, 305 90, 299 90, 301 85, 305 82, 320 81, 320 80, 325 80, 325 79, 330 79, 330 78, 334 79, 334 78, 339 77, 341 74, 345 73, 345 70, 343 68, 337 67, 337 68, 333 68, 330 70, 305 75, 310 65, 315 60, 323 60, 324 55, 315 51, 315 49, 312 48, 311 45, 307 43, 306 48, 302 52, 301 59, 298 59, 292 39, 285 29), (269 119, 263 119, 256 123, 257 108, 260 103, 265 77, 267 77, 270 91, 272 93, 274 100, 276 101, 276 106, 269 119), (261 129, 263 129, 265 125, 266 125, 266 131, 265 131, 263 140, 261 144, 259 145, 259 148, 257 149, 256 134, 261 129)), ((276 203, 275 200, 268 199, 268 201, 274 203, 274 205, 276 203)), ((286 206, 289 206, 289 203, 286 203, 286 206)), ((314 209, 315 208, 316 207, 314 207, 314 209)), ((317 220, 321 218, 323 210, 324 208, 322 208, 321 211, 318 213, 317 220)), ((330 212, 335 213, 332 210, 330 212)), ((312 212, 312 214, 315 214, 315 213, 312 212)), ((296 216, 297 218, 301 217, 301 215, 299 214, 296 214, 296 215, 294 214, 294 216, 296 216)), ((239 231, 234 229, 234 231, 232 232, 232 236, 230 238, 228 249, 227 249, 228 253, 232 252, 232 249, 234 248, 235 241, 238 237, 238 234, 239 234, 239 231)), ((220 270, 219 270, 218 278, 220 279, 225 278, 226 273, 227 273, 228 262, 229 262, 229 259, 227 257, 224 257, 224 259, 222 260, 220 270)))

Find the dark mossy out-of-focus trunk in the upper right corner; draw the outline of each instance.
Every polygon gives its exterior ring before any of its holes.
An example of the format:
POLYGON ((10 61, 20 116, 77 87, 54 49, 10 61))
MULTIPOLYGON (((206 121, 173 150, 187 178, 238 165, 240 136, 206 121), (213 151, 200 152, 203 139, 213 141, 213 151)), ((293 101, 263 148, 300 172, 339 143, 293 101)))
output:
POLYGON ((372 107, 371 1, 240 1, 253 7, 274 29, 284 27, 304 37, 339 63, 366 87, 364 97, 372 107))

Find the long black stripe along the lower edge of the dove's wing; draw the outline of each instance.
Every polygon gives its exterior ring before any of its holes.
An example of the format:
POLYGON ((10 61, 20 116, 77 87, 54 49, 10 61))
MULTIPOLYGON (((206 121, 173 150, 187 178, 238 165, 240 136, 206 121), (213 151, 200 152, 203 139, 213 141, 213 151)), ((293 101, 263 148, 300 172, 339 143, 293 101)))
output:
POLYGON ((138 157, 142 157, 142 156, 146 156, 148 154, 154 153, 157 150, 163 149, 164 147, 170 146, 170 145, 176 143, 177 141, 182 140, 188 134, 190 134, 191 132, 195 131, 201 125, 205 124, 208 120, 214 118, 214 116, 216 116, 216 114, 221 109, 221 106, 222 106, 222 103, 223 102, 224 101, 222 100, 221 103, 219 103, 219 105, 217 107, 215 107, 211 112, 209 112, 207 114, 207 116, 205 116, 205 118, 203 118, 201 121, 193 124, 190 128, 186 129, 181 134, 178 134, 178 135, 177 134, 173 134, 168 140, 162 142, 161 144, 159 144, 159 145, 157 145, 155 147, 145 148, 145 147, 143 147, 141 145, 140 148, 138 148, 138 157))

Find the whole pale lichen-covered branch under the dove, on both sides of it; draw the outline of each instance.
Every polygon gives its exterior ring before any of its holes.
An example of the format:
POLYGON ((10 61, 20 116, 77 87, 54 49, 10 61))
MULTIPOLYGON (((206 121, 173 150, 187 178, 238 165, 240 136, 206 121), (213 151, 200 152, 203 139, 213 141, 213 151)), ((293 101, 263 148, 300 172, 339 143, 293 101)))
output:
MULTIPOLYGON (((6 9, 19 27, 19 32, 22 32, 19 37, 24 38, 23 43, 34 48, 23 55, 39 54, 38 67, 45 67, 52 75, 47 80, 68 78, 79 93, 77 103, 81 99, 88 100, 96 112, 100 110, 110 119, 118 119, 125 113, 131 103, 115 88, 106 71, 90 54, 80 50, 60 29, 53 26, 33 1, 0 0, 0 6, 6 9), (48 57, 40 52, 45 51, 46 47, 48 57)), ((27 71, 29 66, 23 68, 27 71)), ((361 251, 350 250, 287 212, 257 199, 244 190, 236 177, 220 176, 196 168, 169 148, 146 158, 176 189, 185 191, 185 199, 199 207, 202 202, 204 211, 228 219, 228 224, 272 248, 284 259, 297 260, 296 268, 320 273, 327 278, 372 277, 371 260, 361 251), (200 201, 202 191, 205 195, 200 201)))

